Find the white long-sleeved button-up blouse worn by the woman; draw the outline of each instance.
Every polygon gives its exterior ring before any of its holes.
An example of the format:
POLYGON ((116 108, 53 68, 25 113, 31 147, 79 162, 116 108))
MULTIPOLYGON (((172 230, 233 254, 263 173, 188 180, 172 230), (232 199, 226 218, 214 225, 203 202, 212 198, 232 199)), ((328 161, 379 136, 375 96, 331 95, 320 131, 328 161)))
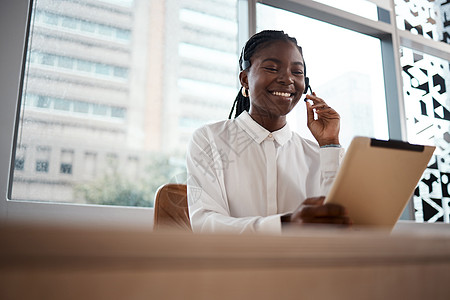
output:
POLYGON ((344 155, 289 129, 269 132, 247 112, 196 130, 187 152, 194 232, 280 233, 280 215, 326 195, 344 155))

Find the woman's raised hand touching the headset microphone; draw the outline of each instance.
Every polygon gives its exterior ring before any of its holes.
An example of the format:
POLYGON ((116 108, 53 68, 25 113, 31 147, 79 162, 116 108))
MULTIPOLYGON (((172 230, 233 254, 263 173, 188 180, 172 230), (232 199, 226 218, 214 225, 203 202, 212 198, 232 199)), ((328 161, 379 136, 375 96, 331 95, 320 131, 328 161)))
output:
POLYGON ((340 116, 331 107, 329 107, 322 98, 312 95, 306 95, 306 112, 308 119, 308 128, 319 146, 329 144, 339 144, 340 116), (317 118, 314 117, 314 112, 317 118))

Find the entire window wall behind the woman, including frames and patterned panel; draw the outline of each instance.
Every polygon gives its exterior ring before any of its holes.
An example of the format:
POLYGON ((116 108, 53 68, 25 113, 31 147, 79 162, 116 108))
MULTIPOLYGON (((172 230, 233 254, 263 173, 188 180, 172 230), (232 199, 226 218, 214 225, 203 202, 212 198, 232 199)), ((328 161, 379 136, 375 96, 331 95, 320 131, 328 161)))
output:
MULTIPOLYGON (((344 146, 355 135, 438 146, 411 213, 450 222, 448 1, 33 0, 28 18, 26 2, 0 12, 3 217, 148 219, 130 206, 184 180, 192 132, 228 116, 243 42, 282 29, 340 113, 344 146)), ((311 138, 302 103, 289 122, 311 138)))

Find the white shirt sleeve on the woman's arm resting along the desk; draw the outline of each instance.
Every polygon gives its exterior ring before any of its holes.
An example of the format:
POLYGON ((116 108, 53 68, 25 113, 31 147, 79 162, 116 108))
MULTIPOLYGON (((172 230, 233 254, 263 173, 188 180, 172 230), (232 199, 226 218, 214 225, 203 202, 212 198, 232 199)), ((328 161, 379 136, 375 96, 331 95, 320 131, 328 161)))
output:
POLYGON ((207 128, 197 130, 186 156, 188 206, 194 232, 281 233, 280 215, 230 216, 223 184, 221 156, 207 128))

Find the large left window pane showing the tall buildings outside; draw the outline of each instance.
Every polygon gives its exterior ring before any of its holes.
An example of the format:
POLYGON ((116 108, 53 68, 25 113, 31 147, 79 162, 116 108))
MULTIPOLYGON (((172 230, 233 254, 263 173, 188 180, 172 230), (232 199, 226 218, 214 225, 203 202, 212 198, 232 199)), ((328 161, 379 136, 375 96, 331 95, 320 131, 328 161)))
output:
POLYGON ((193 130, 228 117, 237 0, 33 9, 12 199, 151 206, 160 185, 185 177, 193 130))

